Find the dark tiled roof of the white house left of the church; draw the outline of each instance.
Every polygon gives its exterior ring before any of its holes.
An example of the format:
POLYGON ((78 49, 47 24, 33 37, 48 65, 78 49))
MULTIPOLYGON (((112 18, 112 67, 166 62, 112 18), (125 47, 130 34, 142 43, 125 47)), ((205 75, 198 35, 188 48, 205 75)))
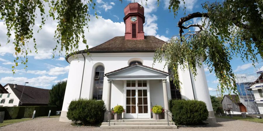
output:
MULTIPOLYGON (((15 95, 20 99, 24 85, 17 85, 14 88, 15 84, 8 84, 15 95)), ((22 98, 21 98, 22 105, 23 104, 43 104, 47 105, 49 102, 49 89, 42 89, 36 88, 31 86, 25 86, 22 98)))

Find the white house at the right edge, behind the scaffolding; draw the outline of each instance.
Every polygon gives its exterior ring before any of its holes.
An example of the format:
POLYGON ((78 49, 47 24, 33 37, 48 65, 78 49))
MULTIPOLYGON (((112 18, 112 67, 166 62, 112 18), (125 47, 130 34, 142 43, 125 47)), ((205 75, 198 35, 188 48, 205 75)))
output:
POLYGON ((260 76, 254 84, 250 86, 250 89, 254 93, 254 99, 255 102, 257 102, 259 113, 263 114, 263 72, 258 71, 257 73, 260 74, 260 76))

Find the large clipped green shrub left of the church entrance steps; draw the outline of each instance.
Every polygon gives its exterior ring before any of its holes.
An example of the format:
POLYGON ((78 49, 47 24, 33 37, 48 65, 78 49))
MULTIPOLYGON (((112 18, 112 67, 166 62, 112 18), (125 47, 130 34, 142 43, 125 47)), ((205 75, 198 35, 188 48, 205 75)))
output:
POLYGON ((82 125, 100 125, 103 122, 105 110, 102 100, 78 99, 70 102, 67 117, 82 125))

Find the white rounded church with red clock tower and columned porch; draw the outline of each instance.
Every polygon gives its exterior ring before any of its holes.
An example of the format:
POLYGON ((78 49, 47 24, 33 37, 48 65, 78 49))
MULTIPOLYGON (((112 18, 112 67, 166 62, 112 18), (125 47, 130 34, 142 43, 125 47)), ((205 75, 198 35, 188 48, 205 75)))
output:
MULTIPOLYGON (((124 36, 90 48, 89 55, 82 50, 66 56, 70 70, 60 121, 69 121, 67 111, 72 100, 88 98, 104 100, 108 111, 122 105, 126 110, 123 118, 151 118, 152 105, 169 109, 169 99, 201 100, 207 105, 208 119, 215 122, 203 65, 196 66, 195 79, 191 70, 179 67, 181 88, 177 89, 170 81, 165 59, 153 65, 155 50, 166 42, 144 35, 144 8, 129 3, 124 15, 124 36)), ((171 114, 165 115, 167 118, 171 120, 171 114)))

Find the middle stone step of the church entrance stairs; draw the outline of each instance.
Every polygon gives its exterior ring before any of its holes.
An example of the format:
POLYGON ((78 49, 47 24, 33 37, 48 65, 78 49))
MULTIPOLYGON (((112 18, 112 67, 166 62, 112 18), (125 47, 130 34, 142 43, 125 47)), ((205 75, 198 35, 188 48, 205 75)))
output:
MULTIPOLYGON (((109 125, 109 122, 103 122, 101 123, 101 125, 109 125)), ((151 122, 151 121, 147 121, 147 122, 110 122, 110 125, 167 125, 167 121, 166 122, 151 122)), ((174 122, 169 122, 169 125, 175 125, 174 122)))

